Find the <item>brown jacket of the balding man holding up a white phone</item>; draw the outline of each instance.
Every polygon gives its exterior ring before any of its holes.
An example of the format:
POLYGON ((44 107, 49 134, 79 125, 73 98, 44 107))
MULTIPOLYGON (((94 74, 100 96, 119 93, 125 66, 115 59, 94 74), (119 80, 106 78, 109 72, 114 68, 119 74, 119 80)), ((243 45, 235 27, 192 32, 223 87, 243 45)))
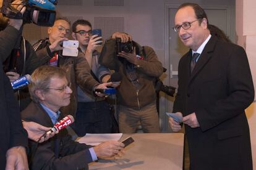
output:
MULTIPOLYGON (((48 39, 41 39, 33 45, 36 55, 45 61, 45 64, 49 63, 49 59, 54 56, 54 52, 49 51, 48 39)), ((64 68, 67 71, 67 80, 71 83, 72 95, 70 104, 67 107, 62 107, 61 111, 64 115, 72 115, 75 117, 77 111, 77 87, 84 92, 92 94, 93 87, 100 84, 90 74, 90 66, 84 55, 79 52, 77 57, 62 56, 62 51, 57 52, 58 67, 64 68)))

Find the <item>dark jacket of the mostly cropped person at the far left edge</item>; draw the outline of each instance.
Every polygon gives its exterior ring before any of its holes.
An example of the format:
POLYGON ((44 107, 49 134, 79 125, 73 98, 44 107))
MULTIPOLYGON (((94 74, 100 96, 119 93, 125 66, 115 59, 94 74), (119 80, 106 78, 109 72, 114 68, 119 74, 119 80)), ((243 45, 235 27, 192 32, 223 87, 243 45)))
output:
POLYGON ((6 167, 6 152, 9 148, 27 147, 27 132, 22 127, 19 105, 14 97, 10 80, 2 70, 2 62, 14 48, 18 33, 19 31, 12 26, 0 31, 0 169, 6 167))

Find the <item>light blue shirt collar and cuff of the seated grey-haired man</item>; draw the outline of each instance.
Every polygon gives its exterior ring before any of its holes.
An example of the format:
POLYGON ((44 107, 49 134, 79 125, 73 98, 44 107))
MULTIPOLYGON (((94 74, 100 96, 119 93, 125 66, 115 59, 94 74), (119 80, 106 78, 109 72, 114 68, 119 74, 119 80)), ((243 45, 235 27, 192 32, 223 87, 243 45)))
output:
MULTIPOLYGON (((53 110, 49 109, 48 107, 46 107, 42 103, 40 103, 40 105, 41 105, 41 107, 43 107, 43 109, 46 111, 48 116, 51 118, 51 121, 53 122, 53 124, 57 123, 59 115, 61 114, 61 111, 58 110, 57 112, 54 112, 53 110)), ((98 160, 98 158, 96 156, 96 153, 95 153, 93 148, 89 148, 89 152, 90 152, 90 155, 92 156, 92 161, 98 160)))

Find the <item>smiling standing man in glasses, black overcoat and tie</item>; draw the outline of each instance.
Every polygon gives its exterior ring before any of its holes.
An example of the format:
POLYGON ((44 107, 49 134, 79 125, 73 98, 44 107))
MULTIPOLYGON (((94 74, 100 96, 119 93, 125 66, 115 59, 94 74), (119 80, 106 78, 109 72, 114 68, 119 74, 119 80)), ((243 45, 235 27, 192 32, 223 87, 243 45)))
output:
MULTIPOLYGON (((242 47, 211 35, 197 4, 182 4, 174 31, 190 48, 179 62, 173 112, 183 115, 190 169, 252 169, 245 108, 254 100, 254 85, 242 47), (198 54, 196 54, 198 53, 198 54)), ((181 125, 169 118, 173 131, 181 125)))

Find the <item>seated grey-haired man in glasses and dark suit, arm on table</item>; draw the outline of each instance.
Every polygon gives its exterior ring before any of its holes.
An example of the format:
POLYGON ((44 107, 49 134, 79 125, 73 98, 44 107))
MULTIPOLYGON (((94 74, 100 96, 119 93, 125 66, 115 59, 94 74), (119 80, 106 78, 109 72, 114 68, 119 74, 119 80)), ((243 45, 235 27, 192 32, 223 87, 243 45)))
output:
MULTIPOLYGON (((70 103, 72 90, 66 71, 59 67, 41 66, 32 74, 28 87, 33 102, 22 111, 22 119, 46 127, 62 118, 59 108, 70 103)), ((120 153, 124 144, 117 141, 103 142, 96 147, 79 144, 71 139, 66 129, 40 144, 29 141, 30 169, 88 169, 88 163, 120 153)))

